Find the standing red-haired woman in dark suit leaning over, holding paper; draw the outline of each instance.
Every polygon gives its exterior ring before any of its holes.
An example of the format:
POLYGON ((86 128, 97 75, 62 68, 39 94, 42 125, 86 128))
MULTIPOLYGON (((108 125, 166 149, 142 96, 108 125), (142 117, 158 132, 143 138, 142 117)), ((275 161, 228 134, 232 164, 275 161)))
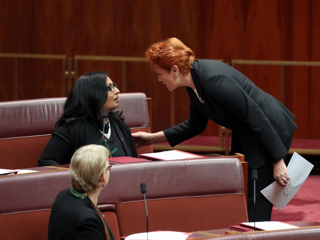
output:
POLYGON ((169 91, 185 86, 190 117, 157 133, 137 132, 138 146, 168 141, 173 147, 203 132, 208 119, 232 131, 231 153, 242 153, 249 165, 249 221, 270 221, 272 204, 260 193, 274 180, 286 186, 290 179, 284 159, 297 125, 295 116, 273 96, 242 73, 215 60, 195 60, 194 52, 177 38, 152 44, 146 59, 169 91), (256 217, 253 209, 252 169, 257 169, 256 217))

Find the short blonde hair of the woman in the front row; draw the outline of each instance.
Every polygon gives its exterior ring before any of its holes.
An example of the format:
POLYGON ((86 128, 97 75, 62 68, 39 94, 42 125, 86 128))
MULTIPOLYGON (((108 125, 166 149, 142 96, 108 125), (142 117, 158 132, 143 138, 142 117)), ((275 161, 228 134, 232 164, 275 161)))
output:
POLYGON ((101 145, 78 148, 70 163, 72 187, 80 193, 88 193, 99 187, 99 181, 107 169, 109 151, 101 145))

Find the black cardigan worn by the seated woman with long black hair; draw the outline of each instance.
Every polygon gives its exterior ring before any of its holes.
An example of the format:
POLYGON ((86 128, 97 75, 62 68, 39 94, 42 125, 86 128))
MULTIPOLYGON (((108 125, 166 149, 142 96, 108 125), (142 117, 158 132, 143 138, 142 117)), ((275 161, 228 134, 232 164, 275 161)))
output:
MULTIPOLYGON (((123 156, 138 157, 128 125, 123 123, 120 129, 117 124, 112 122, 110 124, 113 136, 122 144, 123 156)), ((39 158, 38 166, 70 164, 72 155, 82 146, 101 144, 106 147, 101 138, 102 133, 91 121, 78 120, 71 124, 63 124, 52 133, 50 141, 39 158)))

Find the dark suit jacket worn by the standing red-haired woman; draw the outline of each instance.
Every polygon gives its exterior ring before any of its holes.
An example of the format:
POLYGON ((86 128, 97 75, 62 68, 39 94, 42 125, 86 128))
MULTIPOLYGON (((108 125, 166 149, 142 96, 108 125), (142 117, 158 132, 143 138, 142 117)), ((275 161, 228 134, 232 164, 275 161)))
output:
POLYGON ((204 102, 186 87, 190 117, 164 130, 171 146, 201 133, 211 119, 232 131, 231 152, 244 154, 251 168, 286 156, 284 144, 291 140, 297 125, 295 116, 282 103, 220 61, 194 61, 191 76, 204 102))

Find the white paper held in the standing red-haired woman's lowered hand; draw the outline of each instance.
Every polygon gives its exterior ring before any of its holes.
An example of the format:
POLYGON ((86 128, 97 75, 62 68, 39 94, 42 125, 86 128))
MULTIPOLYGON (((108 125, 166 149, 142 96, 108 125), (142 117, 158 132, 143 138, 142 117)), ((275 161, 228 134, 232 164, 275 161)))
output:
MULTIPOLYGON (((268 187, 264 188, 261 193, 273 205, 282 210, 298 192, 304 181, 310 174, 313 165, 306 159, 294 152, 290 163, 288 164, 288 173, 290 173, 290 187, 287 199, 284 199, 283 187, 276 182, 273 182, 268 187)), ((286 187, 285 187, 286 188, 286 187)))

